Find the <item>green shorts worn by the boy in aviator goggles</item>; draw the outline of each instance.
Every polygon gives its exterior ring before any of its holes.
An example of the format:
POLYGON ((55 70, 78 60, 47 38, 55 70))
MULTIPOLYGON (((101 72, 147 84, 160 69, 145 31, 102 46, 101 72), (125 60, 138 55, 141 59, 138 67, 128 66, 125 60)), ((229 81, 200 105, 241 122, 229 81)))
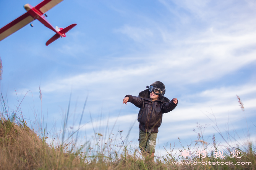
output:
POLYGON ((139 149, 141 152, 153 152, 156 150, 156 137, 157 133, 154 132, 144 132, 139 130, 139 149))

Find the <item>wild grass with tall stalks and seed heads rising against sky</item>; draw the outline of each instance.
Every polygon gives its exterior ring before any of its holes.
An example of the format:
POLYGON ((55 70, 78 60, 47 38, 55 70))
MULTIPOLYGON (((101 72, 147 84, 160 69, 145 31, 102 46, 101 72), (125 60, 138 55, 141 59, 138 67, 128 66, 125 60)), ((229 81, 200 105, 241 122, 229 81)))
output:
MULTIPOLYGON (((243 103, 239 97, 238 99, 241 109, 244 111, 244 107, 242 107, 243 103)), ((85 105, 86 102, 84 107, 85 105)), ((226 146, 220 146, 215 140, 214 134, 211 142, 206 142, 204 139, 204 130, 207 125, 198 124, 197 129, 194 130, 195 132, 199 131, 196 141, 183 146, 181 140, 178 138, 181 148, 177 152, 174 152, 177 144, 166 144, 165 151, 167 154, 155 157, 153 161, 147 155, 142 156, 138 148, 134 148, 130 144, 126 145, 123 141, 125 140, 122 136, 123 131, 119 131, 119 144, 114 144, 113 134, 105 134, 109 136, 109 140, 107 143, 102 143, 104 136, 101 133, 94 132, 94 138, 97 141, 96 145, 87 142, 83 146, 78 147, 76 144, 78 132, 69 133, 68 138, 71 140, 68 143, 64 140, 67 115, 63 119, 62 136, 57 136, 59 140, 55 140, 56 138, 54 138, 54 140, 49 141, 45 135, 45 128, 38 128, 42 132, 36 132, 34 129, 28 127, 21 111, 20 116, 17 115, 18 109, 16 111, 7 111, 4 100, 2 100, 2 106, 3 111, 0 112, 0 169, 254 170, 256 167, 256 152, 253 143, 248 140, 243 146, 232 146, 229 142, 231 138, 229 140, 225 139, 217 127, 217 123, 214 121, 216 131, 226 141, 226 146), (74 135, 75 133, 77 135, 74 135), (72 136, 76 136, 76 138, 72 136), (202 151, 208 152, 208 155, 205 156, 202 151), (216 151, 223 151, 224 157, 216 157, 216 151), (232 151, 239 152, 237 157, 230 156, 230 152, 232 151), (185 154, 190 156, 185 156, 185 154), (209 162, 211 162, 211 165, 209 165, 209 162), (215 165, 212 165, 212 162, 215 162, 215 165), (225 165, 225 162, 232 162, 232 164, 225 165), (245 162, 245 165, 238 165, 238 162, 245 162), (224 165, 222 165, 223 163, 224 165)), ((81 122, 79 123, 79 127, 80 124, 81 122)))

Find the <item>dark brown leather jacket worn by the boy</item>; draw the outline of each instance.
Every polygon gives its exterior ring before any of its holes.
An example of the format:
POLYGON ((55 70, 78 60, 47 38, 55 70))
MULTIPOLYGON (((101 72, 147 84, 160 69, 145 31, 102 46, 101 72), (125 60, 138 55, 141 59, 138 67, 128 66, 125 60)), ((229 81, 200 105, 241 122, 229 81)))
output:
POLYGON ((126 95, 129 97, 128 102, 139 107, 138 121, 139 128, 144 132, 158 132, 163 119, 163 113, 168 113, 175 109, 177 104, 164 102, 161 100, 152 101, 150 98, 140 98, 136 96, 126 95))

